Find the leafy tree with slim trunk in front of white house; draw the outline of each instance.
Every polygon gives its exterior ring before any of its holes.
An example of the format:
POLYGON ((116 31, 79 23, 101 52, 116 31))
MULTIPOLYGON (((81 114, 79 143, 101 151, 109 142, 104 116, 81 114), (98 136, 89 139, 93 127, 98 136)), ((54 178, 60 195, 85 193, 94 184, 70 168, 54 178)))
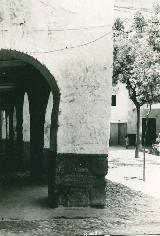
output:
POLYGON ((113 83, 126 85, 129 98, 137 110, 137 135, 135 157, 139 157, 140 109, 160 97, 160 58, 148 44, 145 36, 114 34, 113 83), (123 39, 123 40, 122 40, 123 39))

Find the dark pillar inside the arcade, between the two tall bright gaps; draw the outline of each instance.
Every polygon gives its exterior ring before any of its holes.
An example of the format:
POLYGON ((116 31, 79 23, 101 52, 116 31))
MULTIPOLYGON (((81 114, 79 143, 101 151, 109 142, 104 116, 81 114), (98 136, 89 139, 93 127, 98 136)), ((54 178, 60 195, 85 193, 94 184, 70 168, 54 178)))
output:
POLYGON ((27 93, 30 110, 31 177, 39 180, 42 177, 44 166, 44 122, 50 89, 48 85, 46 86, 39 80, 36 86, 30 87, 27 93))

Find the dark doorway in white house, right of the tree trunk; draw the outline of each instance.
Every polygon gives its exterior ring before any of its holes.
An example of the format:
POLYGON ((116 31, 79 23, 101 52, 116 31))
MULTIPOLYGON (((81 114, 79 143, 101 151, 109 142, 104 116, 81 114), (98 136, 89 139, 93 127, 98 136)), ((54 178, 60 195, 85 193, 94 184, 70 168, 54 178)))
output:
MULTIPOLYGON (((144 137, 146 132, 146 118, 142 118, 142 145, 144 145, 144 137)), ((146 133, 146 145, 151 146, 156 141, 156 119, 148 119, 148 129, 146 133)))

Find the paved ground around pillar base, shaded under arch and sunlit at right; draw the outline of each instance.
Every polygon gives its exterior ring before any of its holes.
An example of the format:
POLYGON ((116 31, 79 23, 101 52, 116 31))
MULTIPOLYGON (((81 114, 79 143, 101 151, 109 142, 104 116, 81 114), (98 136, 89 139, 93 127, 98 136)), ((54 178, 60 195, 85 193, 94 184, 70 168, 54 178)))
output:
MULTIPOLYGON (((120 183, 123 179, 127 183, 130 180, 135 180, 135 183, 142 181, 139 177, 132 179, 139 173, 135 172, 135 165, 139 168, 142 166, 142 160, 135 161, 130 156, 132 154, 132 150, 127 152, 126 150, 111 150, 104 209, 49 209, 46 202, 46 185, 31 186, 26 183, 24 186, 20 183, 14 187, 14 183, 8 183, 8 186, 5 186, 0 192, 0 235, 65 236, 160 233, 160 198, 135 190, 133 184, 128 187, 125 186, 125 182, 120 183), (121 155, 123 155, 122 158, 121 155), (127 158, 128 155, 130 161, 127 158), (128 172, 125 168, 128 166, 134 171, 129 172, 128 179, 126 179, 124 177, 127 177, 128 172), (118 175, 123 174, 121 178, 118 178, 120 179, 118 182, 113 172, 122 167, 124 169, 119 171, 118 175), (9 187, 9 190, 5 190, 9 187)), ((158 159, 148 156, 148 168, 150 165, 157 167, 157 162, 159 162, 158 159)))

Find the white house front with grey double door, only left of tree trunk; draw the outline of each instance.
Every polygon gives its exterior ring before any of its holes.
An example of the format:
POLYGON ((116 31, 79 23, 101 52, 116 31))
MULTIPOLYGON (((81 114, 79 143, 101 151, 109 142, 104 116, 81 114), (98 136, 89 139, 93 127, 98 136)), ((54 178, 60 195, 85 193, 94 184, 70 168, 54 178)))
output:
POLYGON ((135 106, 129 99, 124 84, 119 83, 112 90, 110 145, 125 146, 126 135, 130 136, 131 145, 134 145, 136 136, 135 106), (113 99, 116 100, 115 103, 113 103, 113 99))

